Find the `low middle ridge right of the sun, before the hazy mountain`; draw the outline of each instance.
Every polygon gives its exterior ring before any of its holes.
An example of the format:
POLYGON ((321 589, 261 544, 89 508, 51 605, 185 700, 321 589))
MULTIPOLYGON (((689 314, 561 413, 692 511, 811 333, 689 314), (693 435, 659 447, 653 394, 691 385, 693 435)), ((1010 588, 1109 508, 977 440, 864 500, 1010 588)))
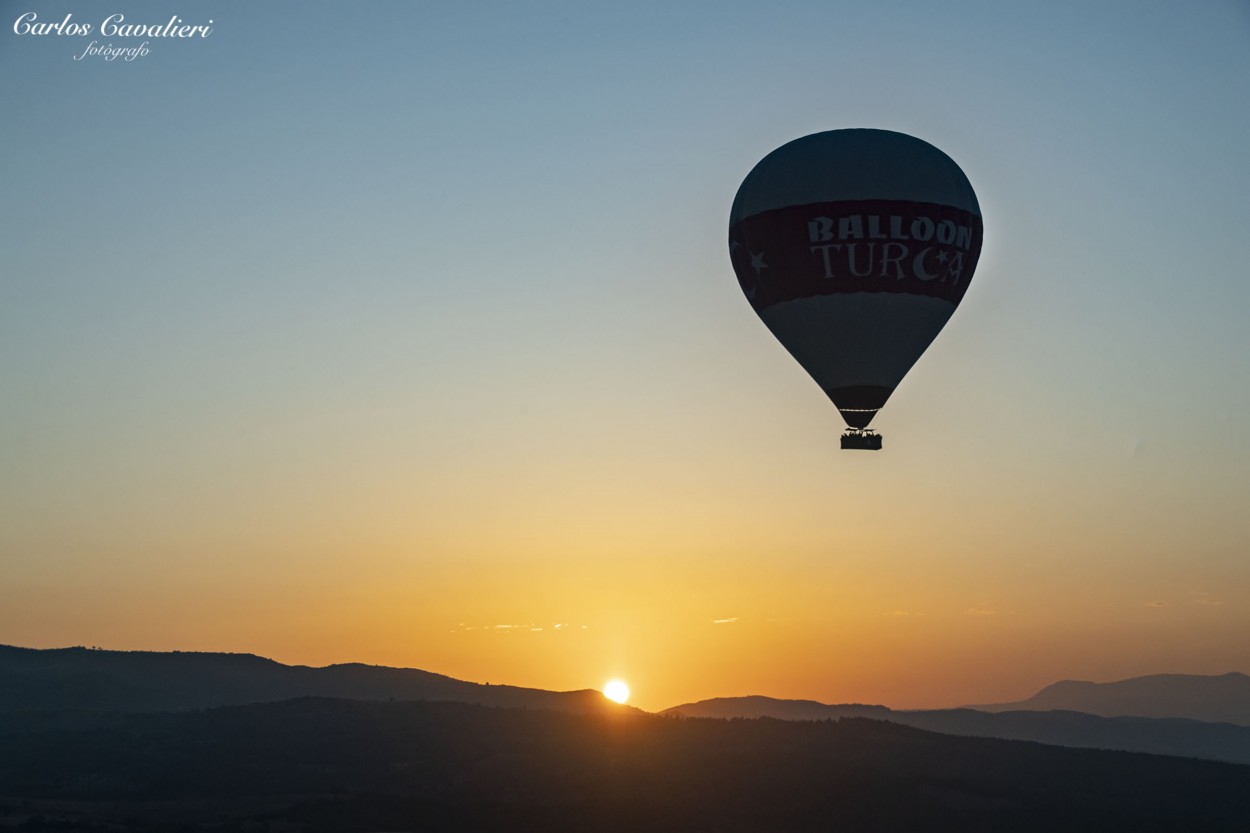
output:
POLYGON ((835 720, 871 717, 918 729, 1006 740, 1034 740, 1060 747, 1149 752, 1250 764, 1250 727, 1172 718, 1096 717, 1078 712, 1001 712, 972 709, 895 712, 884 705, 826 705, 814 700, 770 697, 724 697, 675 705, 669 715, 835 720))

